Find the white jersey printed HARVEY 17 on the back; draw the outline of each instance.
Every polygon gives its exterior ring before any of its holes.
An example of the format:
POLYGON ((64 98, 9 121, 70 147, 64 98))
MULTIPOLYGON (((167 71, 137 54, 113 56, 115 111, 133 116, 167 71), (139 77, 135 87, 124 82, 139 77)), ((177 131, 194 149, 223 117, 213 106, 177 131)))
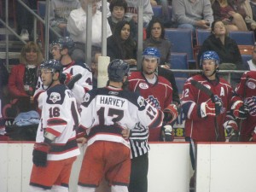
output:
POLYGON ((90 90, 81 105, 81 126, 86 130, 88 146, 95 141, 123 143, 123 129, 134 129, 137 123, 156 128, 161 126, 163 113, 153 108, 135 92, 111 86, 90 90))

